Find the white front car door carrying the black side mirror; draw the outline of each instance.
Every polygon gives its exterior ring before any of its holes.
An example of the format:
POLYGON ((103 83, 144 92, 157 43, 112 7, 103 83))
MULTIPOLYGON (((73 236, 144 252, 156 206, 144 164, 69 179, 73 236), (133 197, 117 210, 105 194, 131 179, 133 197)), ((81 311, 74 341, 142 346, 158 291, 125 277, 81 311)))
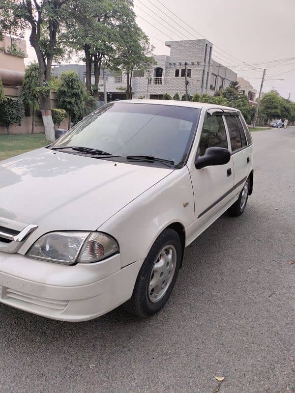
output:
MULTIPOLYGON (((221 111, 220 111, 221 112, 221 111)), ((190 175, 195 200, 194 231, 196 236, 220 215, 229 200, 233 198, 234 165, 233 159, 225 165, 208 166, 196 169, 196 155, 204 155, 208 147, 229 147, 224 119, 217 112, 206 112, 201 135, 196 139, 193 160, 190 163, 190 175)))

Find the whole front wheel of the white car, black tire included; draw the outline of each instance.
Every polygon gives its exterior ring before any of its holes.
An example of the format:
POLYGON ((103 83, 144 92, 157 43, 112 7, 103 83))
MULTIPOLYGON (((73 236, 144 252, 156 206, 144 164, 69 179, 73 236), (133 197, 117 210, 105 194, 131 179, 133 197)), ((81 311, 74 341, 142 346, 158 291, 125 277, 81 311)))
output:
POLYGON ((139 271, 132 297, 124 305, 127 312, 144 319, 165 305, 177 280, 181 253, 177 232, 166 228, 155 240, 139 271))

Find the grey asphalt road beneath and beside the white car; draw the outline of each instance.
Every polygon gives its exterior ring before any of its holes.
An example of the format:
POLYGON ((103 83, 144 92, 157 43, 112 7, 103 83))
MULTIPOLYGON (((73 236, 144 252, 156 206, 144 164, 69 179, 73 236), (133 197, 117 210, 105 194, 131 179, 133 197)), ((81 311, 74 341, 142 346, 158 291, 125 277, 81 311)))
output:
POLYGON ((252 134, 254 193, 185 253, 166 307, 81 323, 0 305, 0 392, 295 392, 295 127, 252 134))

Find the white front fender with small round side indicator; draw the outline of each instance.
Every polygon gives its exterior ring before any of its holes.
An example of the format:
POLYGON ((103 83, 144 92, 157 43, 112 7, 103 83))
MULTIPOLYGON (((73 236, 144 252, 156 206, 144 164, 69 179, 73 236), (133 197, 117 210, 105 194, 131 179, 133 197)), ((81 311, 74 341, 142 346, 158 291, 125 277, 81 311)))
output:
POLYGON ((194 218, 194 195, 187 167, 176 169, 102 224, 114 236, 121 266, 145 259, 158 235, 172 223, 186 228, 194 218))

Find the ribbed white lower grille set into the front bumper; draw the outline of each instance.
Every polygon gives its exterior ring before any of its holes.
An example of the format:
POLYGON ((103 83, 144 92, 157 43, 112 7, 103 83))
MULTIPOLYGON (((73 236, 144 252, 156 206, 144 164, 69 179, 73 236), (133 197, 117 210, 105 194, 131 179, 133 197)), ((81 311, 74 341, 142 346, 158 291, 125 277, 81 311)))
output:
POLYGON ((62 311, 66 308, 68 300, 54 300, 33 296, 27 293, 19 292, 10 288, 2 288, 2 299, 8 300, 12 306, 15 305, 35 305, 46 309, 54 309, 62 311))

